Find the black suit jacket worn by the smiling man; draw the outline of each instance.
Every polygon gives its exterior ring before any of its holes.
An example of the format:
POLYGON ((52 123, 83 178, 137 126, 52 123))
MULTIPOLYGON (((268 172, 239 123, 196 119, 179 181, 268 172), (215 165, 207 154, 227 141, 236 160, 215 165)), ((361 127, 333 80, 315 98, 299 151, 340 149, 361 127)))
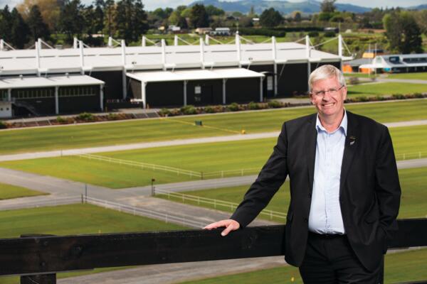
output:
MULTIPOLYGON (((386 253, 386 236, 397 229, 401 189, 386 126, 347 111, 339 203, 349 243, 365 268, 373 270, 386 253)), ((305 255, 312 197, 316 114, 285 122, 258 178, 231 219, 247 226, 290 178, 285 260, 300 266, 305 255)))

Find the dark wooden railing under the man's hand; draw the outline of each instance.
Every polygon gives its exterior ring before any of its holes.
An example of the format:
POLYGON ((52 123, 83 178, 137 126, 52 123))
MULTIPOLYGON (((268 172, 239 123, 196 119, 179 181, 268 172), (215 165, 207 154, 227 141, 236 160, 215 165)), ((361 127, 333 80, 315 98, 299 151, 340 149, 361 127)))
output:
MULTIPOLYGON (((427 246, 427 219, 400 219, 389 248, 427 246)), ((0 239, 0 275, 56 283, 81 269, 284 255, 285 226, 255 226, 222 237, 220 229, 0 239)), ((427 256, 426 256, 427 257, 427 256)))

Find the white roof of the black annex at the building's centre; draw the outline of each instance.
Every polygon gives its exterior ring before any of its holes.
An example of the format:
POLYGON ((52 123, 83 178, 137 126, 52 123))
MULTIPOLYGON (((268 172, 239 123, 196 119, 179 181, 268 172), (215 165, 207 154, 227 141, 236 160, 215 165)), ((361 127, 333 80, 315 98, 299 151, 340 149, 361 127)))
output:
POLYGON ((215 80, 264 77, 263 74, 244 68, 226 68, 212 70, 178 70, 127 73, 128 77, 141 82, 165 82, 187 80, 215 80))

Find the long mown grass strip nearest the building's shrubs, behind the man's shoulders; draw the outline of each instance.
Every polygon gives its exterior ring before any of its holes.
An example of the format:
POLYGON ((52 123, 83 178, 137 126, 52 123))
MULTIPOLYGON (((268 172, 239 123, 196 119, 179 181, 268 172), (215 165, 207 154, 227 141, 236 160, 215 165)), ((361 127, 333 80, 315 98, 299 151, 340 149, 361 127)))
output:
MULTIPOLYGON (((376 104, 347 104, 346 107, 349 111, 369 116, 380 122, 427 119, 427 99, 376 104)), ((242 129, 245 129, 247 133, 280 131, 283 121, 314 112, 313 107, 304 107, 1 131, 0 155, 224 136, 242 129), (206 127, 194 126, 195 120, 202 120, 206 127)))

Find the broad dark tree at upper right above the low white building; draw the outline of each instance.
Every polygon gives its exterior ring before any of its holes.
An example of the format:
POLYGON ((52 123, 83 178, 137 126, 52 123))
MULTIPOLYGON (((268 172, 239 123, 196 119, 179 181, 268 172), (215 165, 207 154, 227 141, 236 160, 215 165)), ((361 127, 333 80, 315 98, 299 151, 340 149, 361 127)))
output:
POLYGON ((393 11, 383 18, 389 50, 394 53, 422 53, 421 31, 408 11, 393 11))

